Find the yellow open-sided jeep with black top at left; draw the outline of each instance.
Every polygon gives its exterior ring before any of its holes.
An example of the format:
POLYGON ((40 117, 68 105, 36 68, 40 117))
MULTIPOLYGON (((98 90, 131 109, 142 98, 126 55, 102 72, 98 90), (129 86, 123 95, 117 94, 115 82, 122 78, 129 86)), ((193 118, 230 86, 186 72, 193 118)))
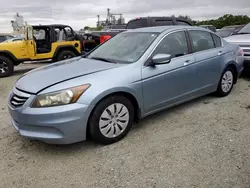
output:
POLYGON ((27 26, 23 40, 0 43, 0 77, 24 61, 61 61, 81 55, 80 37, 67 25, 27 26))

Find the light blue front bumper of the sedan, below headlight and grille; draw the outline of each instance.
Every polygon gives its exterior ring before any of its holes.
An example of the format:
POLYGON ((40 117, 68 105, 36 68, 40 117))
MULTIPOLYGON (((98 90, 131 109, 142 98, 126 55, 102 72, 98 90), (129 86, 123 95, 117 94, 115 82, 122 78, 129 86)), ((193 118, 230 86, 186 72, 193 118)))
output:
MULTIPOLYGON (((26 101, 28 102, 28 101, 26 101)), ((20 135, 50 144, 70 144, 86 140, 91 107, 79 103, 49 107, 20 108, 8 105, 11 122, 20 135)))

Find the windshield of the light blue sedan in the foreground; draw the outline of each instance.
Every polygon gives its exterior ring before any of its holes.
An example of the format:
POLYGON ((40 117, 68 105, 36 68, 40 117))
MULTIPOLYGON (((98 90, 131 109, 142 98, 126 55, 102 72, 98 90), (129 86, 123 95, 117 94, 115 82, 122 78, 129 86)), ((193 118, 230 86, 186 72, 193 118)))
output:
POLYGON ((158 35, 152 32, 120 33, 103 43, 87 58, 108 59, 116 63, 133 63, 144 54, 158 35))

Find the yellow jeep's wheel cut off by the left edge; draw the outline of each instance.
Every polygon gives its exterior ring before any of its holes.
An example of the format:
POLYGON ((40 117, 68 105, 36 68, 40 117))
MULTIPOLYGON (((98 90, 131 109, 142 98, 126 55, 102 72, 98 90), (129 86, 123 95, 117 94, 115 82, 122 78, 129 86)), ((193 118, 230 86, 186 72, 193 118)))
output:
POLYGON ((12 75, 13 71, 14 63, 8 57, 0 56, 0 78, 12 75))

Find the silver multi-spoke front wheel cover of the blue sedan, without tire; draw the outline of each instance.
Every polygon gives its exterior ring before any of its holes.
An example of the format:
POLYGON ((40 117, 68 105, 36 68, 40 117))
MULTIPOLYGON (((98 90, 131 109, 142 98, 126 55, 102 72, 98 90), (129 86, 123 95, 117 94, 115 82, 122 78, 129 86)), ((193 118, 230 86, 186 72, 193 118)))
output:
POLYGON ((114 138, 126 130, 128 123, 128 108, 121 103, 114 103, 108 106, 101 114, 99 129, 103 136, 114 138))

